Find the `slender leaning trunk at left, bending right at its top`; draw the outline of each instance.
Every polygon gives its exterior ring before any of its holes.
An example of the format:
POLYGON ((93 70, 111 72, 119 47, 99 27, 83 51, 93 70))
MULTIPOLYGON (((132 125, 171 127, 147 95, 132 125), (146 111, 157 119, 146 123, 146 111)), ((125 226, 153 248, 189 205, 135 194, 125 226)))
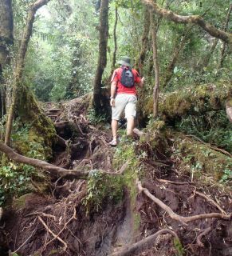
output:
POLYGON ((10 134, 12 130, 12 124, 14 119, 14 111, 16 109, 18 95, 20 92, 20 87, 22 87, 22 72, 24 68, 24 62, 26 57, 26 50, 29 43, 29 38, 32 34, 34 15, 36 11, 43 5, 45 5, 49 0, 37 0, 31 6, 29 6, 29 12, 27 15, 26 28, 22 37, 21 46, 18 52, 18 58, 16 62, 16 67, 14 70, 14 84, 12 92, 12 102, 10 105, 10 110, 7 116, 6 122, 6 134, 5 134, 5 143, 9 145, 10 143, 10 134))

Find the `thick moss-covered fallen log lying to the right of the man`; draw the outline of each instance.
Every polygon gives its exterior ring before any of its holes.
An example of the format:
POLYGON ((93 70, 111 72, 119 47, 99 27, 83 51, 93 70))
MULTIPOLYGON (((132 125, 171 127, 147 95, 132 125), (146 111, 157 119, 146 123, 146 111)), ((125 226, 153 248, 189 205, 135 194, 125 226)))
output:
MULTIPOLYGON (((203 114, 211 110, 224 110, 226 100, 231 97, 232 88, 228 82, 187 87, 159 95, 159 115, 163 119, 181 118, 188 114, 203 114)), ((144 114, 152 113, 152 97, 144 106, 144 114)))

